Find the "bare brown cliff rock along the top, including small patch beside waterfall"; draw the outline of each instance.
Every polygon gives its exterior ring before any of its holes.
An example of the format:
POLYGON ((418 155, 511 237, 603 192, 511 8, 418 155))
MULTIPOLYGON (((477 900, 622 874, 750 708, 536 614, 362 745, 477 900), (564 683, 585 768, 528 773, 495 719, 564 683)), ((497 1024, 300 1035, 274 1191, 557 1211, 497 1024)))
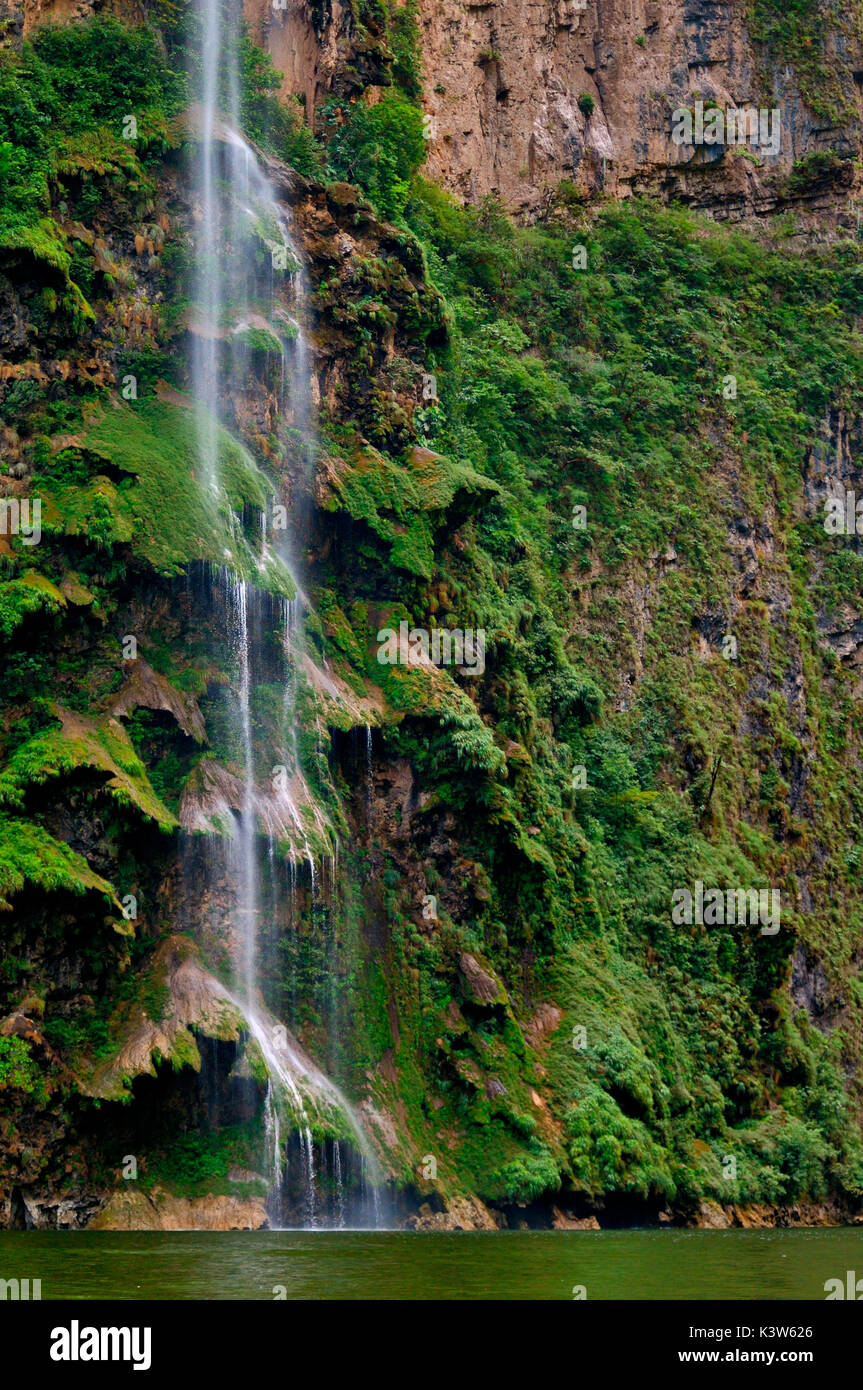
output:
MULTIPOLYGON (((534 217, 570 179, 586 196, 650 192, 721 217, 789 197, 795 163, 860 147, 863 49, 852 10, 813 0, 791 33, 760 0, 420 0, 428 175, 459 197, 498 195, 534 217), (773 21, 773 22, 770 22, 773 21), (673 111, 780 108, 778 149, 675 145, 673 111)), ((246 8, 307 110, 375 88, 374 6, 246 8), (371 28, 365 28, 365 21, 371 28)), ((845 170, 850 179, 850 168, 845 170)), ((794 192, 791 193, 794 196, 794 192)))

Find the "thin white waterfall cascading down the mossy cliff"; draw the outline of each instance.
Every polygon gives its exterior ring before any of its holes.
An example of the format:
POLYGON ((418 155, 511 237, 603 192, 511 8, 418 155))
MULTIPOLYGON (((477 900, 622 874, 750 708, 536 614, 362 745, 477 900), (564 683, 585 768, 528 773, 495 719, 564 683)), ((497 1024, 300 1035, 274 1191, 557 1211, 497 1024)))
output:
MULTIPOLYGON (((254 152, 239 133, 240 90, 238 36, 240 14, 231 14, 222 0, 199 0, 200 70, 199 101, 195 108, 197 135, 196 181, 196 275, 190 313, 192 388, 196 410, 197 466, 202 488, 228 509, 222 478, 225 431, 242 434, 240 398, 247 386, 252 345, 267 345, 268 356, 278 352, 278 388, 274 414, 277 428, 292 441, 310 438, 309 357, 302 331, 302 313, 292 314, 277 295, 293 286, 303 295, 300 257, 290 238, 286 217, 264 177, 254 152), (285 275, 288 282, 285 284, 285 275)), ((296 306, 295 306, 296 307, 296 306)), ((306 443, 300 457, 309 457, 306 443)), ((245 534, 245 518, 231 517, 236 549, 225 555, 225 564, 211 573, 207 599, 228 630, 235 670, 232 699, 232 763, 236 771, 211 771, 208 815, 186 821, 188 828, 213 830, 217 823, 227 834, 227 856, 220 845, 224 838, 210 834, 210 878, 227 869, 231 885, 229 919, 233 991, 225 997, 246 1020, 250 1047, 257 1049, 267 1076, 264 1097, 265 1170, 271 1207, 278 1211, 281 1194, 296 1159, 302 1165, 299 1207, 306 1225, 321 1220, 318 1176, 332 1187, 329 1209, 336 1223, 345 1222, 346 1161, 359 1156, 360 1186, 368 1188, 371 1223, 379 1223, 378 1170, 368 1140, 350 1105, 293 1041, 264 1004, 260 979, 261 917, 264 913, 264 878, 270 902, 278 894, 277 845, 286 847, 293 898, 297 860, 306 865, 311 902, 318 892, 315 853, 310 842, 310 821, 321 842, 334 838, 325 819, 309 798, 300 802, 296 790, 302 783, 293 709, 297 653, 299 600, 256 584, 254 570, 268 574, 275 562, 285 575, 293 569, 290 537, 286 528, 270 528, 261 517, 257 537, 245 534), (256 653, 261 634, 272 627, 274 609, 281 610, 283 632, 283 764, 275 785, 264 787, 270 769, 256 767, 253 737, 253 701, 256 653), (215 808, 215 809, 214 809, 215 808), (227 858, 227 863, 225 863, 227 858), (264 867, 265 866, 265 867, 264 867), (315 1162, 315 1147, 320 1150, 315 1162), (320 1170, 320 1173, 318 1173, 320 1170), (368 1182, 371 1179, 371 1183, 368 1182)), ((293 916, 293 902, 292 902, 293 916)), ((361 1218, 360 1218, 361 1219, 361 1218)))

